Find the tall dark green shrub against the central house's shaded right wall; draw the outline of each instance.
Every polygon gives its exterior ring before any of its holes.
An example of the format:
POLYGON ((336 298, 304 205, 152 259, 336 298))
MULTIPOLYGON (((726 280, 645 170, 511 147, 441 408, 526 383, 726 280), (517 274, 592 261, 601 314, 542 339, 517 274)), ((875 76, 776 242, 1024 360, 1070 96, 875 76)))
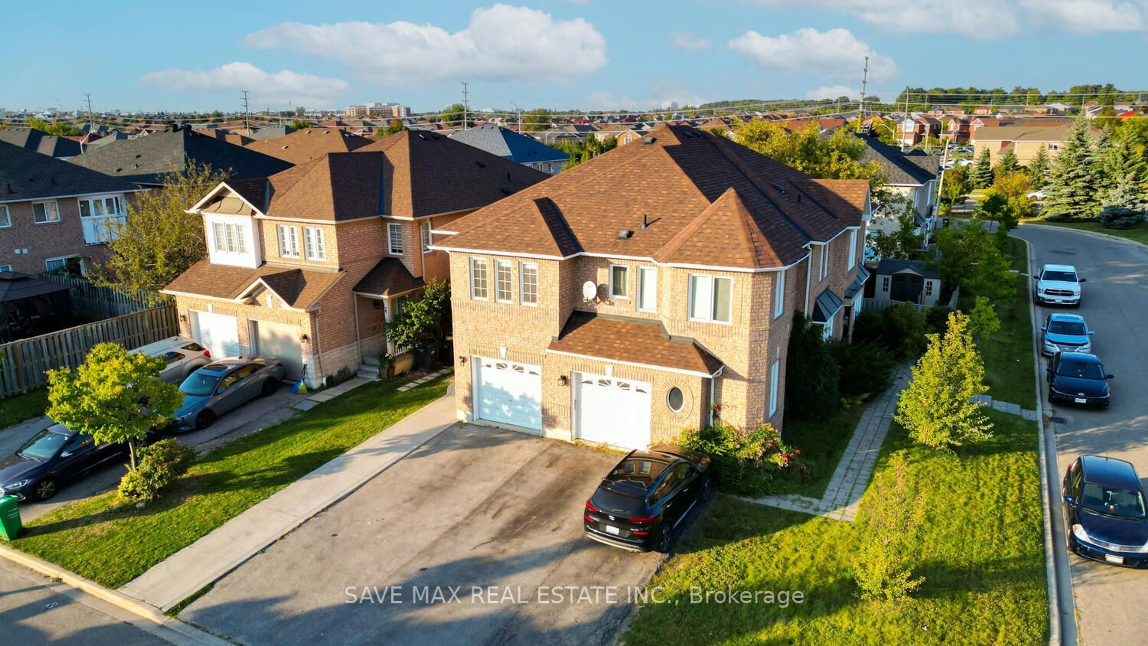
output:
POLYGON ((822 338, 821 327, 793 314, 785 358, 785 414, 793 419, 829 419, 837 411, 840 369, 822 338))

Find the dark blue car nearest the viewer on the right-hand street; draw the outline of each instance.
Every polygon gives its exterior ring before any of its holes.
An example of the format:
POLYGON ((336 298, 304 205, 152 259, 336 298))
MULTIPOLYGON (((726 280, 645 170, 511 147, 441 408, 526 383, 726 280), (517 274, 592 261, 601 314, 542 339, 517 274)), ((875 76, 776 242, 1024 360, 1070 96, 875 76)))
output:
POLYGON ((1148 519, 1135 467, 1116 458, 1080 456, 1064 474, 1063 491, 1069 552, 1148 567, 1148 519))

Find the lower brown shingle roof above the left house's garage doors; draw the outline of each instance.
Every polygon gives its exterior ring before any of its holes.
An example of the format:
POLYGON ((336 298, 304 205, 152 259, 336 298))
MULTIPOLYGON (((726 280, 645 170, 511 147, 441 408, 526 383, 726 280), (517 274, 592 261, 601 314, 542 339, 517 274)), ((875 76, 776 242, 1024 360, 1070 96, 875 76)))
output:
POLYGON ((214 265, 207 258, 192 265, 164 291, 235 299, 262 279, 288 306, 307 310, 318 302, 343 272, 301 270, 264 264, 256 268, 214 265))

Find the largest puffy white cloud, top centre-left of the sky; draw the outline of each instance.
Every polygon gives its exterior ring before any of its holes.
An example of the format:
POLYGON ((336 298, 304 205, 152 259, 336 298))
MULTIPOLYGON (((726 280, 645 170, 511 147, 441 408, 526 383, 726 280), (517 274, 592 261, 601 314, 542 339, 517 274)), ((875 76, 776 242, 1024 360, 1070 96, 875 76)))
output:
POLYGON ((606 39, 582 18, 556 21, 528 7, 495 5, 471 14, 453 33, 409 22, 282 23, 250 33, 245 44, 287 47, 335 59, 377 83, 486 79, 563 81, 606 64, 606 39))

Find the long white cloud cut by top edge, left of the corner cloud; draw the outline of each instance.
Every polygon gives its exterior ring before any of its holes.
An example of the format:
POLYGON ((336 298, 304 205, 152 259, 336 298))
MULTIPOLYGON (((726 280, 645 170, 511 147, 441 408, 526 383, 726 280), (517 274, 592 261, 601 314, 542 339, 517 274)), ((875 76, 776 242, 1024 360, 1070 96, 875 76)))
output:
POLYGON ((1004 0, 758 0, 758 2, 783 9, 843 11, 898 33, 961 33, 970 38, 992 40, 1013 36, 1021 30, 1016 7, 1004 0))

